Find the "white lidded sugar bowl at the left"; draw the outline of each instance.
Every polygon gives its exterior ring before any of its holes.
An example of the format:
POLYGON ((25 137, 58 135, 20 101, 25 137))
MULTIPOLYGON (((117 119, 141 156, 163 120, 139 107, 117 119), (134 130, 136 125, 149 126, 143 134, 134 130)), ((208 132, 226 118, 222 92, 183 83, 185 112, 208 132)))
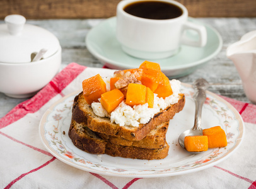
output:
POLYGON ((61 45, 50 31, 25 24, 18 14, 6 16, 0 25, 0 92, 13 98, 35 95, 57 74, 61 45), (46 50, 38 60, 33 57, 46 50))

